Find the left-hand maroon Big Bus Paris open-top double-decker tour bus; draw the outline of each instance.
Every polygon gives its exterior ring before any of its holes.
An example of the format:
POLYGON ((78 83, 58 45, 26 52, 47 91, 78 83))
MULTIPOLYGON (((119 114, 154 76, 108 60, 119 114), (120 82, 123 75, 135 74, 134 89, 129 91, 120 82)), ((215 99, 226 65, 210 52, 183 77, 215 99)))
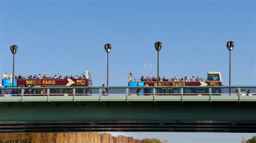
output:
MULTIPOLYGON (((2 87, 8 88, 12 87, 12 74, 2 74, 2 87)), ((83 76, 79 77, 64 77, 60 78, 60 76, 56 77, 15 77, 14 81, 15 87, 56 87, 56 89, 51 89, 51 92, 56 92, 58 95, 62 95, 63 93, 69 94, 72 93, 72 89, 62 89, 57 90, 57 87, 90 87, 92 86, 92 77, 90 71, 86 70, 83 73, 83 76)), ((83 94, 89 93, 88 89, 78 89, 82 91, 83 94), (88 90, 88 91, 87 91, 88 90)), ((33 90, 33 93, 30 92, 31 90, 26 90, 25 94, 45 94, 45 90, 33 90)), ((5 96, 12 96, 14 94, 14 90, 5 90, 2 91, 3 95, 5 96)), ((19 93, 16 93, 19 94, 19 93)))

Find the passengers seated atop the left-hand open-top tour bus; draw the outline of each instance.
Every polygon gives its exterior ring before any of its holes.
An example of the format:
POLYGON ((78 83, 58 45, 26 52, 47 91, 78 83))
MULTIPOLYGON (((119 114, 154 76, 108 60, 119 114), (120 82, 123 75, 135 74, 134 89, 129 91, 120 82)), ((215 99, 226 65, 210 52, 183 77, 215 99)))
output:
POLYGON ((22 75, 19 75, 19 76, 15 76, 16 79, 29 79, 29 80, 32 80, 32 79, 85 79, 86 76, 83 74, 82 76, 78 76, 78 75, 71 75, 71 76, 64 76, 62 77, 62 75, 55 75, 55 76, 48 76, 48 75, 41 75, 39 74, 38 76, 37 75, 29 75, 28 77, 23 77, 22 75))

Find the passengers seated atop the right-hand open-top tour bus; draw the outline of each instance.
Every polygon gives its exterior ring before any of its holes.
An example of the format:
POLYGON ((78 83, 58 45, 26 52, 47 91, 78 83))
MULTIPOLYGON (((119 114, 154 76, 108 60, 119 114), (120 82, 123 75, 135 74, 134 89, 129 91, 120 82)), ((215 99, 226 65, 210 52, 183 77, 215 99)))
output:
MULTIPOLYGON (((157 81, 158 79, 156 77, 152 77, 150 78, 149 76, 147 76, 146 78, 144 78, 144 76, 142 76, 140 78, 140 81, 157 81)), ((132 79, 130 80, 132 81, 132 79)), ((159 77, 159 81, 202 81, 202 78, 199 78, 197 76, 197 78, 194 78, 194 76, 192 76, 191 78, 188 78, 187 76, 185 76, 184 78, 180 78, 178 79, 176 76, 174 76, 173 78, 171 78, 170 80, 166 77, 160 78, 159 77)))

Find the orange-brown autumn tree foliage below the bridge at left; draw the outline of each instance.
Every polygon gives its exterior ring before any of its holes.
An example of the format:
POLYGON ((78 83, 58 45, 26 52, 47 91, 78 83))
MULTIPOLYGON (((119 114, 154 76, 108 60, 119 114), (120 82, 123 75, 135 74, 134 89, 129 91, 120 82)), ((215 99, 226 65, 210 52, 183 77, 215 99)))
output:
POLYGON ((2 142, 57 142, 57 143, 158 143, 158 139, 134 139, 124 135, 112 136, 110 133, 96 132, 76 132, 76 133, 8 133, 0 134, 0 143, 2 142))

